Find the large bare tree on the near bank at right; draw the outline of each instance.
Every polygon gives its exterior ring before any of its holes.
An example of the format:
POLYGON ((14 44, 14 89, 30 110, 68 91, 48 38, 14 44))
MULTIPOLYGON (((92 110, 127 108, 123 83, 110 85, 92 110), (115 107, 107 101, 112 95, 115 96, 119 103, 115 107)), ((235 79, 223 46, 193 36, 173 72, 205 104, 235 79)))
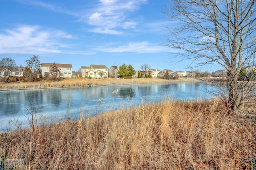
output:
POLYGON ((255 2, 170 0, 164 11, 174 23, 166 26, 170 32, 166 46, 178 49, 178 57, 192 59, 197 66, 217 63, 227 70, 228 92, 223 100, 230 112, 237 111, 256 96, 252 90, 254 81, 238 82, 242 68, 252 66, 255 72, 255 2))

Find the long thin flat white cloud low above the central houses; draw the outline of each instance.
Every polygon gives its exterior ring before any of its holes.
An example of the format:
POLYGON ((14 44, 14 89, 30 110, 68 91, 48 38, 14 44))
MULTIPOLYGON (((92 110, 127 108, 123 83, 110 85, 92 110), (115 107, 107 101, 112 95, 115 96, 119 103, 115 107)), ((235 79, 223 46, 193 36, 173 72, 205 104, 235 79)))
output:
POLYGON ((127 45, 119 45, 118 47, 98 47, 95 50, 104 51, 108 53, 158 53, 165 51, 165 48, 150 42, 128 43, 127 45))

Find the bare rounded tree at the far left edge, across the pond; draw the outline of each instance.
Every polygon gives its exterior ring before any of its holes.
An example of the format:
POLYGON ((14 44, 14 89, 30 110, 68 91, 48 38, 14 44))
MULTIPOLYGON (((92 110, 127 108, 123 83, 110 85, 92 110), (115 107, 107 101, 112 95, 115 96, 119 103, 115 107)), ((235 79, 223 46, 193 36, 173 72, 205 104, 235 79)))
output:
POLYGON ((14 59, 2 58, 0 60, 0 79, 6 83, 9 82, 9 78, 12 76, 16 63, 14 59))

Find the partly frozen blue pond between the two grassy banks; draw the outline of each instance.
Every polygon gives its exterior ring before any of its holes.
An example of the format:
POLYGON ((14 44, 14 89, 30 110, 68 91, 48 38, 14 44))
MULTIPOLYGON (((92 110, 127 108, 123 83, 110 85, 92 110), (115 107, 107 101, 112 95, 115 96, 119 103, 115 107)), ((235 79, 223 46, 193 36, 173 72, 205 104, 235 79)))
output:
POLYGON ((31 111, 31 106, 48 118, 78 119, 81 110, 84 117, 89 113, 94 116, 103 111, 140 105, 142 100, 147 103, 166 97, 174 100, 210 98, 212 95, 207 91, 215 90, 200 82, 176 82, 0 91, 0 127, 6 130, 9 121, 17 119, 27 126, 25 115, 31 111), (114 95, 116 89, 118 92, 114 95))

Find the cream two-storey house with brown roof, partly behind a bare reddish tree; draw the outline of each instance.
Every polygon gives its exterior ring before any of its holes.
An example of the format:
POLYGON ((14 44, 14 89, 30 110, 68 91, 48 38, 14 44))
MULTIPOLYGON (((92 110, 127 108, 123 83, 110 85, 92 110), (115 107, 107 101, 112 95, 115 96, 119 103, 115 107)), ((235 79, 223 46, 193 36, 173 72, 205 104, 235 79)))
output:
MULTIPOLYGON (((50 73, 50 66, 53 63, 41 63, 42 67, 42 77, 46 77, 46 75, 50 73)), ((60 69, 60 73, 58 77, 71 78, 72 77, 72 64, 58 64, 56 63, 58 69, 60 69)), ((51 75, 49 75, 51 76, 51 75)))

